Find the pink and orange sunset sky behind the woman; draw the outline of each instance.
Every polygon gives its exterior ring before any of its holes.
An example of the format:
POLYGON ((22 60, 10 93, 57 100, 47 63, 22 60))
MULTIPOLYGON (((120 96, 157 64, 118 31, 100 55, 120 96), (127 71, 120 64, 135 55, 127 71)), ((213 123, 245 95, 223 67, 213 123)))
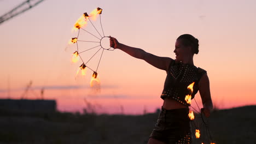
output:
MULTIPOLYGON (((0 1, 0 15, 25 0, 0 1)), ((175 58, 177 37, 199 39, 194 64, 207 70, 213 104, 219 109, 255 105, 256 1, 47 1, 0 25, 0 98, 20 99, 30 81, 36 95, 56 99, 60 111, 141 114, 160 107, 166 72, 123 51, 104 51, 98 67, 101 90, 90 88, 92 71, 75 74, 68 40, 75 21, 100 7, 105 35, 154 55, 175 58), (9 91, 8 91, 9 89, 9 91)), ((100 19, 94 21, 97 23, 100 19)), ((90 23, 85 29, 97 34, 90 23)), ((85 35, 81 32, 80 35, 85 35)), ((83 36, 81 36, 83 37, 83 36)), ((91 35, 84 36, 88 40, 91 35)), ((107 42, 106 42, 107 43, 107 42)), ((90 55, 90 53, 89 53, 90 55)), ((92 59, 96 68, 100 56, 92 59)), ((37 99, 28 92, 27 98, 37 99)), ((201 102, 196 95, 197 103, 201 102)), ((193 101, 192 101, 193 103, 193 101)))

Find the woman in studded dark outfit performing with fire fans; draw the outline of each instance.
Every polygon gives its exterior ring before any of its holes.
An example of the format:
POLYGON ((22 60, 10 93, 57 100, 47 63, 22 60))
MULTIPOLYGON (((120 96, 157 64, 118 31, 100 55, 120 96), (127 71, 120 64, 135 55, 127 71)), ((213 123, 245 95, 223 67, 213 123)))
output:
POLYGON ((205 70, 194 65, 193 56, 199 52, 198 40, 190 34, 183 34, 176 40, 174 53, 176 59, 158 57, 142 49, 130 47, 110 38, 110 46, 120 49, 132 57, 143 59, 156 68, 167 73, 164 90, 161 98, 164 100, 162 109, 149 137, 148 144, 153 143, 192 143, 190 119, 188 118, 189 105, 185 95, 191 94, 192 99, 197 91, 200 92, 203 109, 206 117, 210 116, 213 108, 210 82, 205 70), (194 83, 193 93, 188 86, 194 83))

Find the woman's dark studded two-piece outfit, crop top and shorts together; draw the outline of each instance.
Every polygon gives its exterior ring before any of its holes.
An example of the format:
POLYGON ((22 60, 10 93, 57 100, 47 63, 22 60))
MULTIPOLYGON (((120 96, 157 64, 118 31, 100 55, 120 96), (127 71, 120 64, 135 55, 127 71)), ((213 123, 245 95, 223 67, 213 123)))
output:
MULTIPOLYGON (((185 96, 191 94, 188 86, 194 83, 191 99, 199 90, 199 81, 206 71, 194 65, 183 64, 181 62, 171 62, 167 71, 164 90, 161 98, 174 99, 183 105, 189 106, 185 101, 185 96)), ((151 138, 165 143, 189 144, 192 143, 191 125, 188 117, 189 109, 161 109, 158 121, 150 135, 151 138)))

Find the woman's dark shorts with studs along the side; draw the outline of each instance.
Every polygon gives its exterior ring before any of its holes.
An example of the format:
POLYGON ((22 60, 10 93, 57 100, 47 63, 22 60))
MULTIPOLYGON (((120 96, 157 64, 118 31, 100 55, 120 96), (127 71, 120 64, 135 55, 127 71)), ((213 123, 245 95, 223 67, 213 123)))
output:
POLYGON ((150 138, 165 143, 192 143, 189 109, 161 109, 150 138))

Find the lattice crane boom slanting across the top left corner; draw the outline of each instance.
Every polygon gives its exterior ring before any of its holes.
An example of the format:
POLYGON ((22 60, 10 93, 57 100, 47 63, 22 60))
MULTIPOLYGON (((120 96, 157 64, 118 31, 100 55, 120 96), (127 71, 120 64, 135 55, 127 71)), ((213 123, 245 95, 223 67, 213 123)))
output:
POLYGON ((2 24, 4 21, 7 21, 11 19, 12 17, 19 15, 21 13, 24 13, 28 9, 31 9, 32 7, 36 6, 40 2, 43 2, 44 0, 27 0, 21 4, 19 4, 17 7, 10 10, 8 13, 2 15, 0 17, 0 24, 2 24))

